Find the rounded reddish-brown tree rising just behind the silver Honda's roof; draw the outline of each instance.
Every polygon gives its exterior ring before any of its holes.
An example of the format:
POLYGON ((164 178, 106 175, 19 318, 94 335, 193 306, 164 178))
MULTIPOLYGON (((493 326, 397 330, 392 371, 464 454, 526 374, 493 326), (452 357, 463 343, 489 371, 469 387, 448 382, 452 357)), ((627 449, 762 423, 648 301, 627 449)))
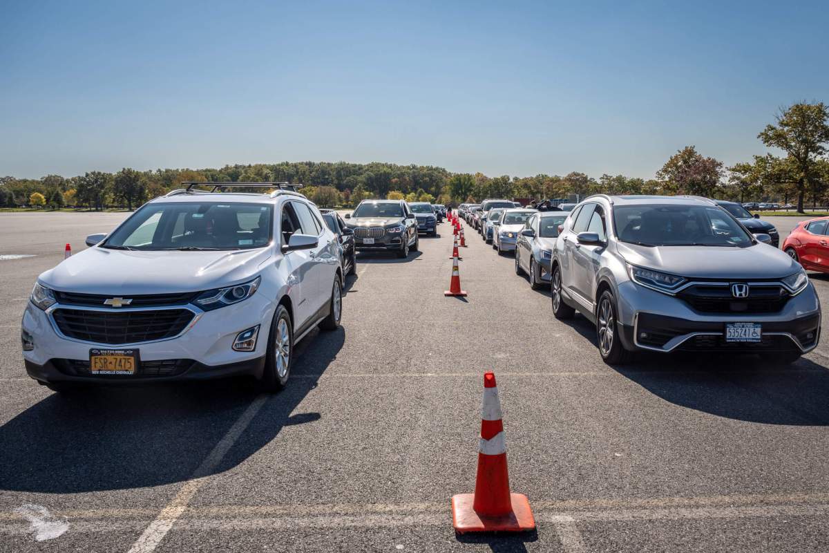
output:
POLYGON ((706 197, 716 195, 722 176, 723 163, 703 157, 694 146, 677 151, 657 172, 668 190, 706 197))

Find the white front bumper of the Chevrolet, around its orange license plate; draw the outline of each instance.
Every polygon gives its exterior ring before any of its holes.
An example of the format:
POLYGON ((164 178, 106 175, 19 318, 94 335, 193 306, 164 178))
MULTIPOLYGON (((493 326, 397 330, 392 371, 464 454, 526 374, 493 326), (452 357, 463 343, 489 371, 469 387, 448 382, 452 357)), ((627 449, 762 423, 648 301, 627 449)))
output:
MULTIPOLYGON (((177 336, 150 342, 107 344, 88 342, 66 336, 51 318, 54 309, 44 312, 28 303, 21 323, 22 330, 32 336, 34 348, 23 352, 27 371, 38 381, 153 381, 204 379, 233 374, 261 374, 269 339, 270 321, 275 306, 264 293, 243 302, 213 311, 186 306, 194 318, 177 336), (255 349, 237 352, 233 349, 236 336, 259 325, 255 349), (138 350, 138 369, 134 375, 92 376, 83 374, 89 364, 90 349, 138 350)), ((76 306, 63 306, 79 309, 76 306)), ((179 306, 185 307, 185 306, 179 306)), ((80 308, 82 309, 82 308, 80 308)), ((120 313, 133 311, 122 308, 120 313)))

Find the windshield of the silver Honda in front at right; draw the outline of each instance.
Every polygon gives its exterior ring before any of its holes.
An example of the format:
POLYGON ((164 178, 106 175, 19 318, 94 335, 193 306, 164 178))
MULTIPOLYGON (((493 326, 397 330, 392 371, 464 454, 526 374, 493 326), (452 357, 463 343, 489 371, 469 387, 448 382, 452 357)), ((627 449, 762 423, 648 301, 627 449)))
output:
POLYGON ((619 240, 639 245, 747 246, 751 236, 715 206, 617 206, 619 240))

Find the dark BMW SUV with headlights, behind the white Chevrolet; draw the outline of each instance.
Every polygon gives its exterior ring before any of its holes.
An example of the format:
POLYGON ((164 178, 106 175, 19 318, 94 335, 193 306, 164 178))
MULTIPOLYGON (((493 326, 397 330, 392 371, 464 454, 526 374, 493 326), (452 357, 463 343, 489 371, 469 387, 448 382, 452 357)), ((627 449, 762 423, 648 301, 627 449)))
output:
POLYGON ((363 200, 346 220, 358 251, 395 251, 405 258, 418 250, 417 219, 403 200, 363 200))

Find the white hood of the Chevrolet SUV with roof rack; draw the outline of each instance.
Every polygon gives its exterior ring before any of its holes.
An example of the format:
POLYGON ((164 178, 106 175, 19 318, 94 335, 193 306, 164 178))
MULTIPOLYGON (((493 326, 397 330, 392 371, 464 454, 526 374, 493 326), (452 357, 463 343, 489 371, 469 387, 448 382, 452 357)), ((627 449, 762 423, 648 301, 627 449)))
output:
POLYGON ((38 280, 61 292, 125 296, 198 292, 255 278, 272 248, 230 251, 128 251, 90 248, 38 280))

